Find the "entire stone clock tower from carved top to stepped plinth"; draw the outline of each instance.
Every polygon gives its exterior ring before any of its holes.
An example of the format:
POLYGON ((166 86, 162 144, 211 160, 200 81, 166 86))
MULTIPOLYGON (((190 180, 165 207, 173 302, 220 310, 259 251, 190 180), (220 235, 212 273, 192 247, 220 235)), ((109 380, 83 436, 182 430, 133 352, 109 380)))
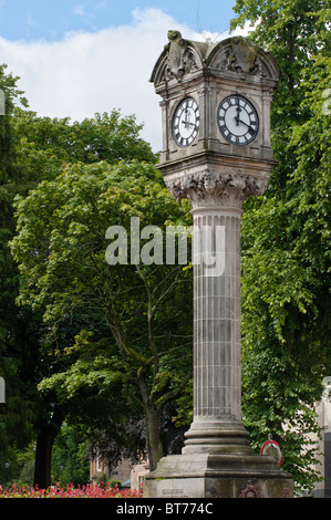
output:
POLYGON ((209 45, 178 31, 168 32, 152 74, 163 113, 158 168, 173 196, 193 207, 194 420, 182 455, 146 476, 145 497, 292 495, 291 477, 252 451, 241 423, 241 206, 265 193, 275 165, 270 103, 279 76, 273 56, 247 38, 209 45))

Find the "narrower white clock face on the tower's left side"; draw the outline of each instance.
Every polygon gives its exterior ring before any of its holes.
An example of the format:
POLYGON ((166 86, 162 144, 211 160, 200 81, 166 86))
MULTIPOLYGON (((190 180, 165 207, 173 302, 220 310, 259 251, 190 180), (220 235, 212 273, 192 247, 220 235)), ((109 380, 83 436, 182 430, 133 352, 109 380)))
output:
POLYGON ((189 146, 197 136, 200 124, 200 111, 193 97, 183 100, 173 117, 173 137, 177 145, 189 146))

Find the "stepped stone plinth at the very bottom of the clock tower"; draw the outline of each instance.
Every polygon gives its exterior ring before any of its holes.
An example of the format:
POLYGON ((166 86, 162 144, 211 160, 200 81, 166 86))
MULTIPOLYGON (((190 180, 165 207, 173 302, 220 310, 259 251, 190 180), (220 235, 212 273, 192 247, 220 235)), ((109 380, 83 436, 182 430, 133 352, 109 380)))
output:
POLYGON ((144 498, 292 497, 291 476, 267 455, 170 455, 144 480, 144 498))

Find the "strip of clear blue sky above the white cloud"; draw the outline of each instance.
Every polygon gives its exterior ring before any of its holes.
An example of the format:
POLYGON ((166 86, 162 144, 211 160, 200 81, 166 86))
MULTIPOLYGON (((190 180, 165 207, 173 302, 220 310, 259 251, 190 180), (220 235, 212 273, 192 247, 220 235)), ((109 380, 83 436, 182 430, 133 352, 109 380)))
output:
POLYGON ((236 0, 0 0, 0 37, 8 40, 62 39, 70 31, 130 24, 136 8, 161 9, 193 30, 224 32, 236 0))

